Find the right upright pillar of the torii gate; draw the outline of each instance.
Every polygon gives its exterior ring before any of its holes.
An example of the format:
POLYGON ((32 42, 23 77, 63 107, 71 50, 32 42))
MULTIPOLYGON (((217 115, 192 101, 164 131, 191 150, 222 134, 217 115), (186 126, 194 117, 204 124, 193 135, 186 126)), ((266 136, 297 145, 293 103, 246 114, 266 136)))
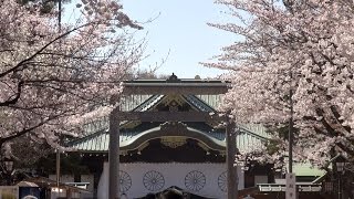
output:
POLYGON ((237 133, 235 122, 229 118, 227 118, 226 134, 228 199, 238 199, 238 176, 237 166, 235 166, 237 133))

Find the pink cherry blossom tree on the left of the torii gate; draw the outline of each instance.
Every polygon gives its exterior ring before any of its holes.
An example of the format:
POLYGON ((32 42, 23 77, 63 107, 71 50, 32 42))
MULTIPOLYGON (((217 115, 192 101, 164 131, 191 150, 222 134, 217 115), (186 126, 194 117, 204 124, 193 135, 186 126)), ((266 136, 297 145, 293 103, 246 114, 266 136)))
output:
POLYGON ((139 62, 143 42, 126 29, 142 29, 113 0, 82 0, 81 17, 58 24, 15 0, 0 3, 0 149, 12 140, 60 148, 90 119, 115 106, 121 82, 139 62), (23 138, 21 139, 23 140, 23 138))

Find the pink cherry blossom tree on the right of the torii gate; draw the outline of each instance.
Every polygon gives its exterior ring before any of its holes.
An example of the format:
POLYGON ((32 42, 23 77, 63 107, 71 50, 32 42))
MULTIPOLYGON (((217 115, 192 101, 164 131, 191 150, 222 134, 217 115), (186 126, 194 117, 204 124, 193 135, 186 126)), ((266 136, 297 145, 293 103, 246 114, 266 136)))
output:
MULTIPOLYGON (((236 22, 210 25, 240 36, 216 63, 205 64, 229 70, 232 86, 221 109, 231 109, 238 123, 280 129, 293 108, 296 158, 322 166, 340 153, 353 159, 354 2, 218 2, 236 22)), ((273 133, 277 149, 284 150, 279 133, 273 133)))

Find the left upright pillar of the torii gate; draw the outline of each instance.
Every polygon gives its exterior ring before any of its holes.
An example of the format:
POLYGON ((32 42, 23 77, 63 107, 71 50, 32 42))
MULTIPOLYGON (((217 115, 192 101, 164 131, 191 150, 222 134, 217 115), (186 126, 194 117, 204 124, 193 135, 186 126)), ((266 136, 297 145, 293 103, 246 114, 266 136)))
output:
POLYGON ((108 150, 108 165, 110 165, 110 186, 108 199, 117 199, 119 196, 118 188, 118 170, 119 170, 119 121, 117 117, 119 109, 114 108, 110 114, 110 150, 108 150))

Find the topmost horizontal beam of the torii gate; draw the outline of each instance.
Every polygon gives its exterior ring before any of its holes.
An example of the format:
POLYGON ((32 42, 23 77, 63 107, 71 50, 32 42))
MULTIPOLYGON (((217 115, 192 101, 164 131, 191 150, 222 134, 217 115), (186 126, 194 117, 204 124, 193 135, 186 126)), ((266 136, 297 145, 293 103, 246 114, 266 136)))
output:
POLYGON ((123 94, 145 95, 217 95, 228 91, 227 83, 123 83, 123 94))

